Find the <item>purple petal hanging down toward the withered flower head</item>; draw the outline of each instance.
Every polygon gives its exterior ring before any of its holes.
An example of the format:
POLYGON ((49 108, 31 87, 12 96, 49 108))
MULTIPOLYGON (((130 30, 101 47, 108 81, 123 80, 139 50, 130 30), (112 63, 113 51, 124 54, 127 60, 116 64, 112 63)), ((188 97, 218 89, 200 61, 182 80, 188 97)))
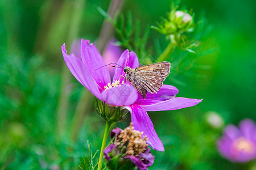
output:
POLYGON ((148 145, 154 150, 164 151, 163 143, 160 141, 158 134, 156 134, 152 121, 147 112, 137 104, 124 107, 131 113, 131 122, 135 130, 143 131, 143 136, 147 135, 148 145))

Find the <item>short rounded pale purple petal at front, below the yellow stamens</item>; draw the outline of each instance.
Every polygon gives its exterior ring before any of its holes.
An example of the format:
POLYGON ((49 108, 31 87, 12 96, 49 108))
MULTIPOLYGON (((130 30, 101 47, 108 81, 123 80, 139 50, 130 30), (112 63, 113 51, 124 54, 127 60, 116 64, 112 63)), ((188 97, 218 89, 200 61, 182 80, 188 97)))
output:
POLYGON ((127 84, 109 88, 101 94, 102 101, 116 106, 133 104, 137 98, 137 90, 133 86, 129 86, 127 84))

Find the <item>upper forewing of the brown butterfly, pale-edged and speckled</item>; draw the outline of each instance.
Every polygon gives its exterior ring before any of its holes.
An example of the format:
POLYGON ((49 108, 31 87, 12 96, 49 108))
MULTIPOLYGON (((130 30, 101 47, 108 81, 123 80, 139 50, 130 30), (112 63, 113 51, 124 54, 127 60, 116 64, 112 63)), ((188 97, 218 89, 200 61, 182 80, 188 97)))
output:
POLYGON ((151 65, 137 67, 135 71, 144 70, 144 71, 152 71, 155 73, 159 73, 162 76, 164 81, 169 75, 170 69, 171 69, 171 63, 167 61, 163 61, 158 63, 152 63, 151 65))

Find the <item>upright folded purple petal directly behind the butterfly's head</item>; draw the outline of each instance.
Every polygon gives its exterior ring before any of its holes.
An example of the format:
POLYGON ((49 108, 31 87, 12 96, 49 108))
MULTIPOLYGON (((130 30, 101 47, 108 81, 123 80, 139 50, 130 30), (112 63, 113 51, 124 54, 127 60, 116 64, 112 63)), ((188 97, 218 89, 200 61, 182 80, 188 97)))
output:
MULTIPOLYGON (((117 64, 122 67, 129 66, 129 67, 131 67, 131 69, 134 69, 139 66, 139 60, 138 60, 137 55, 134 52, 129 53, 129 50, 127 49, 121 54, 120 58, 118 59, 117 64)), ((113 82, 115 80, 119 80, 119 79, 120 79, 120 82, 122 82, 123 76, 125 76, 125 72, 123 72, 123 69, 118 68, 118 67, 115 68, 113 82)))

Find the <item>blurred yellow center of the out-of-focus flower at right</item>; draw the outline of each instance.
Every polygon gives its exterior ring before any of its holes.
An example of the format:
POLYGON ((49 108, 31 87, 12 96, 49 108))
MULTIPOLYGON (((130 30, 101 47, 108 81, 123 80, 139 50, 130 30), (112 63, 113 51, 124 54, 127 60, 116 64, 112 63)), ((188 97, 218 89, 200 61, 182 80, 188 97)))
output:
POLYGON ((243 137, 236 139, 236 141, 234 141, 234 146, 238 151, 245 151, 249 154, 254 151, 253 143, 243 137))

